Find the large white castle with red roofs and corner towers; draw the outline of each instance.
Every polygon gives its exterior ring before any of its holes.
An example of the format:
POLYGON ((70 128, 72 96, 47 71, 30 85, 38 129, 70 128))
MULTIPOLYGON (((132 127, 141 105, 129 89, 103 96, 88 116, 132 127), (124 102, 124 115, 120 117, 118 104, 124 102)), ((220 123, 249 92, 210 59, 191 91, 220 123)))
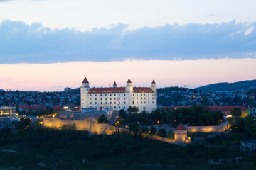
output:
POLYGON ((105 110, 127 110, 129 106, 137 106, 139 111, 152 111, 156 109, 156 82, 153 80, 151 87, 134 87, 128 79, 125 87, 117 87, 114 81, 113 87, 90 88, 89 81, 85 79, 81 86, 81 110, 97 108, 105 110))

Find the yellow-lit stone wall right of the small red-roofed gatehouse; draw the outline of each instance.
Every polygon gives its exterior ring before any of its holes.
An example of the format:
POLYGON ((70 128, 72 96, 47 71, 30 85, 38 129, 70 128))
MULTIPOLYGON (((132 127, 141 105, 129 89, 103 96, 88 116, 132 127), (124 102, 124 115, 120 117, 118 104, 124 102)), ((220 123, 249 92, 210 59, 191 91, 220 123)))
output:
POLYGON ((188 126, 188 132, 225 132, 231 127, 230 123, 223 123, 218 126, 188 126))

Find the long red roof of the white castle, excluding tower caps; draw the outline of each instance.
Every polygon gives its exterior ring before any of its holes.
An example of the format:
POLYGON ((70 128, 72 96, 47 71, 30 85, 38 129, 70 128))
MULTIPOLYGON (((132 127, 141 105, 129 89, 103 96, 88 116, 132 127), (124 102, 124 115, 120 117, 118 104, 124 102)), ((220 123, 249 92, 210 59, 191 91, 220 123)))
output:
MULTIPOLYGON (((134 87, 134 93, 153 93, 150 87, 134 87)), ((125 87, 90 88, 88 94, 125 93, 125 87)))

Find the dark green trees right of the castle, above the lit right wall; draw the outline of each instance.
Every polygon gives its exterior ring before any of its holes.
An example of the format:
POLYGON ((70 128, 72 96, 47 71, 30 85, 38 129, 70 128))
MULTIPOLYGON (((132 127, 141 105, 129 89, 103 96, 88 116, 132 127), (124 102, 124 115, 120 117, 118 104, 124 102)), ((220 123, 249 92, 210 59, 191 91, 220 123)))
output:
POLYGON ((144 125, 152 124, 170 124, 173 126, 179 123, 187 125, 218 125, 223 121, 223 114, 220 111, 209 111, 202 106, 193 106, 191 108, 180 109, 156 109, 152 113, 142 111, 142 113, 125 113, 124 110, 119 111, 119 123, 142 123, 144 125))

